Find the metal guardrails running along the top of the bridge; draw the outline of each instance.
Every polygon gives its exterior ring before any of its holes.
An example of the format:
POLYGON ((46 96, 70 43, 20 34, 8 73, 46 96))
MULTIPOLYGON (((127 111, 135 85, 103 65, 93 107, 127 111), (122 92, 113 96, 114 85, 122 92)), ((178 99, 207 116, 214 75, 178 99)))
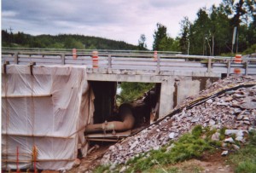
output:
MULTIPOLYGON (((72 50, 69 49, 3 49, 2 63, 9 61, 10 64, 37 65, 71 64, 86 65, 92 67, 92 51, 83 50, 77 52, 74 59, 72 50), (58 52, 59 51, 59 52, 58 52)), ((244 57, 240 64, 234 63, 233 57, 201 56, 201 55, 180 55, 176 52, 158 52, 154 58, 154 51, 131 51, 131 50, 104 50, 98 51, 99 68, 108 69, 137 69, 149 70, 156 73, 164 71, 192 71, 192 72, 221 72, 233 73, 236 68, 241 68, 245 74, 256 74, 256 59, 244 57)))

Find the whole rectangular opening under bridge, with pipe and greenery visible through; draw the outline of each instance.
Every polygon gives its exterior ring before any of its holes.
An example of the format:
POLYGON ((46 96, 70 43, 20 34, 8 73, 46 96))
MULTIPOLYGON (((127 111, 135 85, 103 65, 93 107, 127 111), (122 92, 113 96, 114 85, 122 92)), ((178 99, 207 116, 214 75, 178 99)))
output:
POLYGON ((90 81, 90 88, 95 112, 84 136, 91 144, 119 141, 158 118, 160 84, 90 81))

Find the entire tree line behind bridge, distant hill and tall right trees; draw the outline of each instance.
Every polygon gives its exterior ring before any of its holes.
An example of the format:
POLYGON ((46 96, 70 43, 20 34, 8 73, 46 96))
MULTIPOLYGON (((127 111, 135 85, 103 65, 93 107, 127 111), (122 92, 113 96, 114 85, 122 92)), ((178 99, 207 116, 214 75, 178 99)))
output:
MULTIPOLYGON (((172 28, 171 28, 172 29, 172 28)), ((194 21, 184 17, 180 33, 173 38, 167 27, 157 23, 153 34, 153 50, 180 51, 188 55, 229 55, 256 52, 256 1, 223 0, 210 9, 201 8, 194 21), (236 35, 233 38, 233 32, 236 35)), ((137 45, 102 37, 78 34, 32 36, 23 32, 2 30, 3 47, 55 48, 55 49, 138 49, 148 50, 144 34, 137 45)))

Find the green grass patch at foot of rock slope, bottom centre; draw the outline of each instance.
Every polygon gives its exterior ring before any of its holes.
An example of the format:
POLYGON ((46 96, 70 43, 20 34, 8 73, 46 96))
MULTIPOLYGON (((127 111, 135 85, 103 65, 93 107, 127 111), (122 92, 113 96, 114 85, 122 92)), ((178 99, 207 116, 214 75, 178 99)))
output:
MULTIPOLYGON (((130 159, 126 165, 130 168, 127 172, 136 171, 149 171, 154 166, 164 166, 168 164, 176 164, 187 159, 199 159, 204 151, 213 150, 210 142, 201 139, 202 127, 200 125, 195 126, 192 133, 184 134, 178 141, 173 142, 175 144, 172 150, 166 152, 166 146, 160 150, 152 150, 148 153, 141 154, 134 159, 130 159), (146 157, 148 154, 148 157, 146 157)), ((172 142, 169 143, 171 145, 172 142)), ((167 146, 169 146, 167 145, 167 146)), ((160 170, 164 171, 164 170, 160 170)), ((172 170, 171 172, 173 172, 172 170)))

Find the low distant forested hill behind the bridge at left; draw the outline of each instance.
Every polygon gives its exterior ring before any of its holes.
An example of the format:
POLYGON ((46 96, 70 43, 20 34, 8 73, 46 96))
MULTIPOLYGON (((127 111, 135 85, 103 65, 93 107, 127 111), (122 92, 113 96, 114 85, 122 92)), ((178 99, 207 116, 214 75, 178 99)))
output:
POLYGON ((32 36, 23 32, 2 30, 3 47, 55 48, 55 49, 137 49, 137 46, 102 37, 78 34, 32 36))

